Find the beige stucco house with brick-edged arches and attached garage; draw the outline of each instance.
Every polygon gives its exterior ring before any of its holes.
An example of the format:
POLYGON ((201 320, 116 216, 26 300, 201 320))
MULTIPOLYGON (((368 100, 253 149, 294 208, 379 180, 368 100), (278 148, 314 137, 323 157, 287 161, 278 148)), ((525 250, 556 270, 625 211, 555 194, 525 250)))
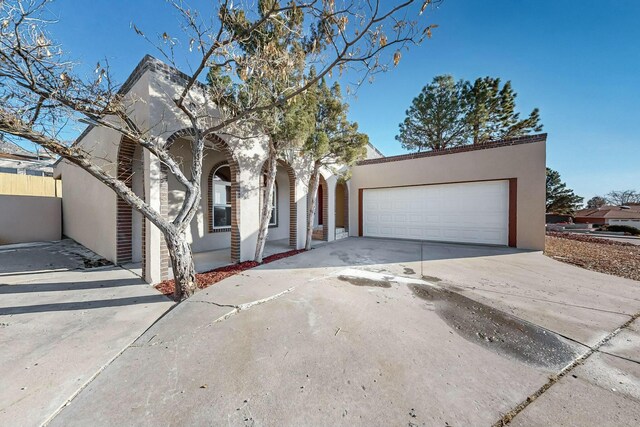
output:
MULTIPOLYGON (((147 56, 123 92, 141 101, 136 120, 162 123, 162 129, 152 131, 154 136, 189 165, 190 130, 171 102, 184 78, 180 71, 147 56)), ((215 114, 212 108, 212 122, 215 114)), ((313 195, 318 200, 314 235, 324 241, 349 235, 541 250, 545 141, 546 135, 535 135, 394 157, 383 157, 370 146, 367 160, 352 168, 347 182, 321 170, 318 194, 313 195)), ((162 214, 169 218, 176 214, 184 191, 148 151, 101 127, 89 127, 76 143, 91 147, 100 166, 125 179, 162 214)), ((265 160, 262 138, 211 137, 203 165, 201 205, 191 227, 197 264, 253 259, 265 160)), ((300 153, 291 152, 279 160, 267 247, 304 247, 309 172, 308 161, 300 153)), ((63 182, 65 235, 113 262, 140 263, 149 282, 169 276, 166 244, 155 226, 71 163, 60 161, 55 174, 63 182)))

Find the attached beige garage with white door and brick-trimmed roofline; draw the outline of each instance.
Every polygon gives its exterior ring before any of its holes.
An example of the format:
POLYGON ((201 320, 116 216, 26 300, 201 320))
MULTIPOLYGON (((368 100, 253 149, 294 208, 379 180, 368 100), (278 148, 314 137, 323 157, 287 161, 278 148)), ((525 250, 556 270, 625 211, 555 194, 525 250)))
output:
POLYGON ((362 160, 350 235, 543 250, 546 137, 362 160))

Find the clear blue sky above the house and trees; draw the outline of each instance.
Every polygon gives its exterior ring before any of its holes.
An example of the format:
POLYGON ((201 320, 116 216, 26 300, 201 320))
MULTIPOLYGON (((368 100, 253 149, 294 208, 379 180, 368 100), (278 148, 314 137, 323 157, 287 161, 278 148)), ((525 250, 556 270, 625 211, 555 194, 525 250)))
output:
MULTIPOLYGON (((386 0, 385 0, 386 2, 386 0)), ((162 0, 58 0, 55 36, 92 67, 108 58, 124 80, 152 48, 130 29, 174 29, 162 0)), ((547 165, 578 195, 640 190, 640 1, 444 0, 428 12, 431 40, 348 101, 350 117, 384 154, 420 89, 438 74, 511 80, 522 115, 538 107, 547 165)))

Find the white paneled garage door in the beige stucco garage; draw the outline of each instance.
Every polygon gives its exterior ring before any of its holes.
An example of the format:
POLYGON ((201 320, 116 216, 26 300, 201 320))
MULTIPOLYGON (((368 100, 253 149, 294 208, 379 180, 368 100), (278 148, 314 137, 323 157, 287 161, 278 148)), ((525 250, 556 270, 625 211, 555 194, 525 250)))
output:
POLYGON ((509 181, 363 191, 370 237, 507 245, 509 181))

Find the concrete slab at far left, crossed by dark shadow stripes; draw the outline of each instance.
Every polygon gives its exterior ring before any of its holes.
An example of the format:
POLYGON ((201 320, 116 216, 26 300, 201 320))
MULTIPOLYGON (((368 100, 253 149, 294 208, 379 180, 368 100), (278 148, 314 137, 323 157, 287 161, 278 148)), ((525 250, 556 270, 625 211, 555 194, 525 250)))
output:
POLYGON ((70 240, 0 247, 0 425, 50 419, 173 303, 70 240))

